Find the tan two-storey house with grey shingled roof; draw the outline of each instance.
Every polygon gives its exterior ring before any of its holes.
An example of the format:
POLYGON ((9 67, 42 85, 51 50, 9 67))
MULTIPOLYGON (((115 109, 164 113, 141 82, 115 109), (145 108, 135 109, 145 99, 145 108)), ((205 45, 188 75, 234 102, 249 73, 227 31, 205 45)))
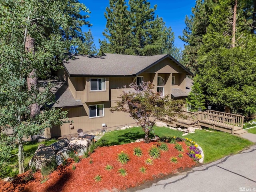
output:
POLYGON ((154 56, 132 56, 105 54, 104 56, 73 55, 64 61, 64 84, 56 92, 56 108, 68 111, 72 124, 55 126, 45 134, 65 136, 75 134, 77 129, 84 132, 98 132, 107 126, 108 130, 136 122, 124 112, 110 112, 118 96, 129 91, 129 84, 150 81, 162 96, 173 99, 188 95, 191 76, 186 67, 169 54, 154 56), (126 86, 126 88, 123 88, 126 86))

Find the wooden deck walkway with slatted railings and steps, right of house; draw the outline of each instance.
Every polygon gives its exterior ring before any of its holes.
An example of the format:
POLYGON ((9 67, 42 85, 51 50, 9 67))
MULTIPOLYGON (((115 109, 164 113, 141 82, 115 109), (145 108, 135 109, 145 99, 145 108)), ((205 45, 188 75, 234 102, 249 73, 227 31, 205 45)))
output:
POLYGON ((204 112, 184 111, 184 118, 176 119, 173 124, 183 127, 208 127, 235 135, 245 134, 248 131, 243 130, 244 116, 224 113, 214 110, 204 112))

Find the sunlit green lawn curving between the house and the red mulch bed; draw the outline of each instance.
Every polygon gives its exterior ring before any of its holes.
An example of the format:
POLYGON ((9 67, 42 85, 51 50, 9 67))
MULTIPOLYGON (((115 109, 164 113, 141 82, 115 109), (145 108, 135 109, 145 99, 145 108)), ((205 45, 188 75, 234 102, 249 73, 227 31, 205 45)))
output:
MULTIPOLYGON (((187 136, 182 136, 183 132, 165 127, 154 127, 154 132, 159 137, 176 136, 192 139, 202 147, 204 151, 204 163, 218 160, 230 154, 236 154, 253 144, 249 140, 216 130, 214 132, 196 130, 195 133, 188 134, 187 136)), ((150 135, 150 137, 153 137, 153 135, 150 135)), ((144 138, 144 132, 140 127, 134 127, 126 130, 107 132, 101 139, 104 140, 106 145, 119 145, 134 142, 139 138, 144 138)), ((102 144, 101 139, 97 142, 97 145, 102 144)))

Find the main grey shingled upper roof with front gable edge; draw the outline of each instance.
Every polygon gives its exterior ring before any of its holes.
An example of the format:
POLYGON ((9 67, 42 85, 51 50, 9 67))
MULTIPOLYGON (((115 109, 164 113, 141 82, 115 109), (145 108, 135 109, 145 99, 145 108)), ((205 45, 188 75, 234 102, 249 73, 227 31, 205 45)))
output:
POLYGON ((137 76, 165 58, 170 58, 188 75, 192 75, 192 72, 169 54, 154 56, 109 53, 104 56, 72 55, 72 59, 64 61, 63 64, 69 76, 137 76))

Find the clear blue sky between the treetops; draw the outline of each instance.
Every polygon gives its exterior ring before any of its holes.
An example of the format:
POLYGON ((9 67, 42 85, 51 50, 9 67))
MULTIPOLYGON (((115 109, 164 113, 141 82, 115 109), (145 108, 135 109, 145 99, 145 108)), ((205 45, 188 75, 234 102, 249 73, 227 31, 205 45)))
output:
MULTIPOLYGON (((104 12, 109 6, 108 0, 80 0, 81 3, 90 10, 90 18, 88 19, 92 24, 90 27, 94 37, 94 43, 99 48, 98 39, 103 40, 102 32, 106 27, 106 18, 104 12)), ((126 0, 128 3, 128 0, 126 0)), ((195 6, 196 0, 148 0, 151 6, 157 5, 155 15, 163 18, 167 27, 172 27, 175 36, 175 46, 183 48, 182 42, 178 36, 182 35, 182 30, 186 27, 185 16, 191 14, 191 8, 195 6)), ((84 32, 88 31, 88 27, 82 28, 84 32)))

